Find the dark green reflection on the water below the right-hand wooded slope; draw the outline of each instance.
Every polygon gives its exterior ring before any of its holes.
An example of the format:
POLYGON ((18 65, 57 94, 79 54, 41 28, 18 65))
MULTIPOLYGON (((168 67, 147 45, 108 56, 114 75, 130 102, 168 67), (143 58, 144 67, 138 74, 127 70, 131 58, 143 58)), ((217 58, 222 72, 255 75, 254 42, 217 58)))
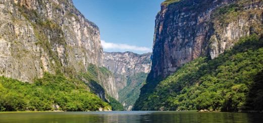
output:
POLYGON ((262 122, 260 113, 232 112, 156 112, 146 114, 140 121, 154 122, 262 122))

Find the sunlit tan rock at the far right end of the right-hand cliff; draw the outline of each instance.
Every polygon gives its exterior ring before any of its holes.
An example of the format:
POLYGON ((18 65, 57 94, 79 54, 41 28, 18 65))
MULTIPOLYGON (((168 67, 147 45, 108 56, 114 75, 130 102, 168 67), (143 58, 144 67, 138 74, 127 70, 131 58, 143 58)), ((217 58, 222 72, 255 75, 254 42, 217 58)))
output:
POLYGON ((262 14, 262 1, 236 1, 215 11, 212 14, 214 33, 209 38, 211 58, 232 48, 241 37, 262 34, 262 14))

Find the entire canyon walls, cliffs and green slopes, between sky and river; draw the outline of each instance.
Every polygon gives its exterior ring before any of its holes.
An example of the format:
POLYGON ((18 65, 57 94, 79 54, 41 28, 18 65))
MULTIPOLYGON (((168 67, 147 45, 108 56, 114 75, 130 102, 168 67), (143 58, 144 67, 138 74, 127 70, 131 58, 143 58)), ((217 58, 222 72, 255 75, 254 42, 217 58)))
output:
POLYGON ((0 111, 262 108, 260 0, 167 0, 145 54, 103 51, 72 0, 0 0, 0 15, 0 111))

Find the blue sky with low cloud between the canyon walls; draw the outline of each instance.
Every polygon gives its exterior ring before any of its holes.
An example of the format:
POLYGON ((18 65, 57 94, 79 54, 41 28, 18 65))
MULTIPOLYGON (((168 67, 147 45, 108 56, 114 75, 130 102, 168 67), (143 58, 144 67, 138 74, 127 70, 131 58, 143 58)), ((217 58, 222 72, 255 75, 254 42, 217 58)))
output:
POLYGON ((104 51, 152 51, 155 16, 164 0, 73 0, 100 30, 104 51))

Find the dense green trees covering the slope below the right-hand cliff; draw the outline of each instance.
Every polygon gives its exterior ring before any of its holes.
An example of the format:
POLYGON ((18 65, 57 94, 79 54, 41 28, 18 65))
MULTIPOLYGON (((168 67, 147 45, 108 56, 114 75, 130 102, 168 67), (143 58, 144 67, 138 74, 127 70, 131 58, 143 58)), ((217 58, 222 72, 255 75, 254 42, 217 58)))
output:
POLYGON ((197 58, 160 82, 152 93, 141 95, 135 109, 262 110, 263 86, 258 79, 262 78, 262 47, 263 39, 254 34, 215 59, 197 58))

